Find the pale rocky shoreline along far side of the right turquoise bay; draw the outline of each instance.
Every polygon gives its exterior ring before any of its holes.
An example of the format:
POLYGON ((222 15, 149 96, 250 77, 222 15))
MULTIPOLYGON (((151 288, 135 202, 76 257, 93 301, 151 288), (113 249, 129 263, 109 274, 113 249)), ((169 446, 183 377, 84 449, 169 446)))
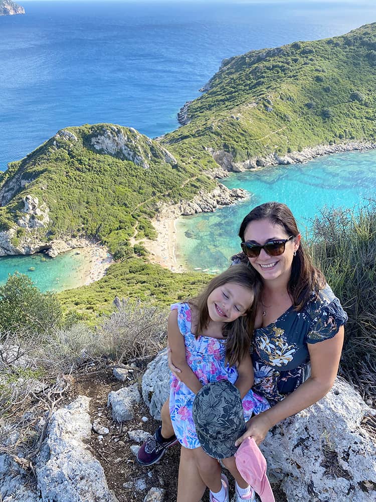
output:
POLYGON ((318 145, 316 147, 304 148, 301 152, 291 152, 287 155, 279 156, 276 152, 266 156, 258 156, 248 159, 244 162, 235 162, 234 157, 224 150, 210 150, 213 159, 222 169, 226 171, 242 172, 248 169, 257 169, 260 167, 302 164, 316 157, 328 154, 337 154, 341 152, 352 152, 354 150, 364 151, 376 149, 376 143, 367 143, 352 141, 338 145, 318 145))

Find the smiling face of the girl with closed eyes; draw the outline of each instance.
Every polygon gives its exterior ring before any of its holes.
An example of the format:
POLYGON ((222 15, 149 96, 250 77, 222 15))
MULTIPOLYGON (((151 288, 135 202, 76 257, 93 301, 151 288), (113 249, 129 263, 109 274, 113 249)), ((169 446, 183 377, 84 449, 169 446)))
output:
POLYGON ((226 283, 214 289, 208 297, 212 321, 231 322, 245 315, 253 303, 251 290, 236 283, 226 283))

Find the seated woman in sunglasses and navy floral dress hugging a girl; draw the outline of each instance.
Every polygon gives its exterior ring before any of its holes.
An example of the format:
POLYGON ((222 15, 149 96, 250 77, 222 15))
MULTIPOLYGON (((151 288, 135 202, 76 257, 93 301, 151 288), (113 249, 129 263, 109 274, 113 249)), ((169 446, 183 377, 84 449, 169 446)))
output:
MULTIPOLYGON (((316 403, 331 389, 342 350, 347 320, 338 299, 313 267, 301 242, 296 221, 285 205, 267 202, 243 220, 239 236, 243 253, 233 262, 247 262, 260 275, 263 290, 257 308, 252 361, 253 389, 272 405, 247 422, 238 439, 253 437, 260 444, 281 420, 316 403)), ((179 369, 170 369, 178 376, 179 369)), ((140 449, 138 461, 150 465, 176 439, 168 403, 161 410, 162 426, 140 449)), ((199 501, 205 491, 196 464, 180 462, 178 502, 199 501), (190 487, 190 501, 183 497, 190 487)))

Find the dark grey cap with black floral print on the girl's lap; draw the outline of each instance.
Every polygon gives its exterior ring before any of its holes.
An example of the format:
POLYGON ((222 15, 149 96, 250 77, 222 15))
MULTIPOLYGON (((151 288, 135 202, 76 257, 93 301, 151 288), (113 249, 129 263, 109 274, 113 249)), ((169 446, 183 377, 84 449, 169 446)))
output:
POLYGON ((238 389, 228 380, 209 383, 196 394, 192 411, 203 450, 214 458, 232 457, 246 430, 238 389))

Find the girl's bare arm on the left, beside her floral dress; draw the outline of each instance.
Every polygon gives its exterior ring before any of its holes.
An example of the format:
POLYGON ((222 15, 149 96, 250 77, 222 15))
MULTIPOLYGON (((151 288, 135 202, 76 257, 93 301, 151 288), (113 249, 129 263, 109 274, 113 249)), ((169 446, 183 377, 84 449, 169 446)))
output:
POLYGON ((177 310, 171 310, 167 324, 168 345, 171 349, 173 364, 180 369, 179 380, 195 394, 202 388, 200 380, 192 371, 185 359, 184 337, 177 325, 177 310))

